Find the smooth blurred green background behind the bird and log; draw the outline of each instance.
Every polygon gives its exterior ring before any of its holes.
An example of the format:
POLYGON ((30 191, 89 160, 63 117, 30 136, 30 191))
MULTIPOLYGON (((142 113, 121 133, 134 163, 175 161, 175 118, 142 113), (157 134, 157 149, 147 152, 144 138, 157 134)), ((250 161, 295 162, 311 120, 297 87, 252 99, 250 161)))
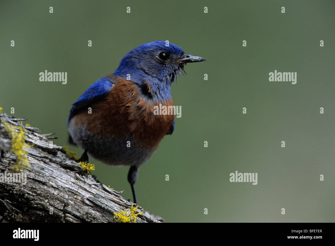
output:
MULTIPOLYGON (((68 145, 81 93, 131 49, 169 40, 207 61, 172 85, 182 117, 140 168, 139 205, 166 222, 335 222, 334 10, 333 0, 1 1, 0 103, 68 145), (40 82, 44 70, 67 72, 67 84, 40 82), (297 72, 296 85, 269 82, 274 70, 297 72), (235 170, 258 184, 230 183, 235 170)), ((128 167, 90 161, 132 198, 128 167)))

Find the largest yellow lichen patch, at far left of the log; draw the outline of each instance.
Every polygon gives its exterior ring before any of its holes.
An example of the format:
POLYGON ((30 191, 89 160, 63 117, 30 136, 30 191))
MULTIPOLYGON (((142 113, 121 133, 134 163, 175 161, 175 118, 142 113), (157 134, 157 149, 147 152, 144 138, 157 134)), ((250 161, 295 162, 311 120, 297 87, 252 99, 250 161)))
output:
POLYGON ((22 168, 26 169, 30 167, 26 155, 28 154, 27 149, 32 147, 32 145, 25 142, 27 136, 23 131, 22 122, 21 126, 18 128, 9 125, 8 123, 6 123, 5 120, 3 120, 2 123, 5 126, 6 131, 11 135, 12 148, 10 151, 12 151, 16 155, 17 164, 11 165, 12 171, 20 172, 22 168), (18 130, 18 132, 16 130, 18 130))

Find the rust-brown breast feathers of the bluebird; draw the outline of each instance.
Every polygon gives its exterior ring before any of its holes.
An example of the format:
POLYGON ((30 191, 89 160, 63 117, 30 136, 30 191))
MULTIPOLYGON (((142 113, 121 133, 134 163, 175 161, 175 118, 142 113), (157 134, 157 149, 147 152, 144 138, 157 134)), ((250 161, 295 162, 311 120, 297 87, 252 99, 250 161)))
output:
POLYGON ((175 119, 174 115, 155 115, 154 106, 159 103, 173 106, 172 99, 154 102, 140 93, 138 85, 117 78, 110 93, 87 106, 92 113, 88 114, 85 107, 76 114, 76 122, 85 125, 92 134, 99 133, 104 138, 130 137, 129 141, 135 145, 154 148, 175 119))

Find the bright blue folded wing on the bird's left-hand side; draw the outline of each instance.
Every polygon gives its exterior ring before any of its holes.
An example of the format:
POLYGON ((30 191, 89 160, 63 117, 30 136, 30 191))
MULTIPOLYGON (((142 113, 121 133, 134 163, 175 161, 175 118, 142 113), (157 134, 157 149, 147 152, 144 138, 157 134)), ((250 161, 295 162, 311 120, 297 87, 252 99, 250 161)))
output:
POLYGON ((111 91, 114 86, 115 81, 109 77, 103 77, 93 83, 81 96, 72 104, 70 114, 67 118, 67 126, 71 118, 74 116, 74 110, 82 108, 85 105, 91 103, 92 101, 105 96, 111 91))

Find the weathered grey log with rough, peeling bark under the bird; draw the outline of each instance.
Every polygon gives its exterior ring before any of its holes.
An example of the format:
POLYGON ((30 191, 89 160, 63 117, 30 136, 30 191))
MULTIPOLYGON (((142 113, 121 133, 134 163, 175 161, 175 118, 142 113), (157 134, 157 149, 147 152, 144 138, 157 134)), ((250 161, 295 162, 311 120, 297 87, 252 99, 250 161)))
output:
MULTIPOLYGON (((11 172, 16 155, 10 150, 10 134, 3 122, 18 128, 25 118, 0 114, 0 173, 11 172)), ((39 134, 39 129, 24 127, 30 167, 21 169, 26 184, 0 182, 0 219, 7 222, 116 222, 114 212, 130 209, 132 203, 119 191, 112 190, 87 176, 78 162, 69 159, 61 146, 53 144, 53 134, 39 134)), ((138 207, 143 214, 137 222, 163 221, 138 207), (159 221, 160 220, 160 221, 159 221)))

